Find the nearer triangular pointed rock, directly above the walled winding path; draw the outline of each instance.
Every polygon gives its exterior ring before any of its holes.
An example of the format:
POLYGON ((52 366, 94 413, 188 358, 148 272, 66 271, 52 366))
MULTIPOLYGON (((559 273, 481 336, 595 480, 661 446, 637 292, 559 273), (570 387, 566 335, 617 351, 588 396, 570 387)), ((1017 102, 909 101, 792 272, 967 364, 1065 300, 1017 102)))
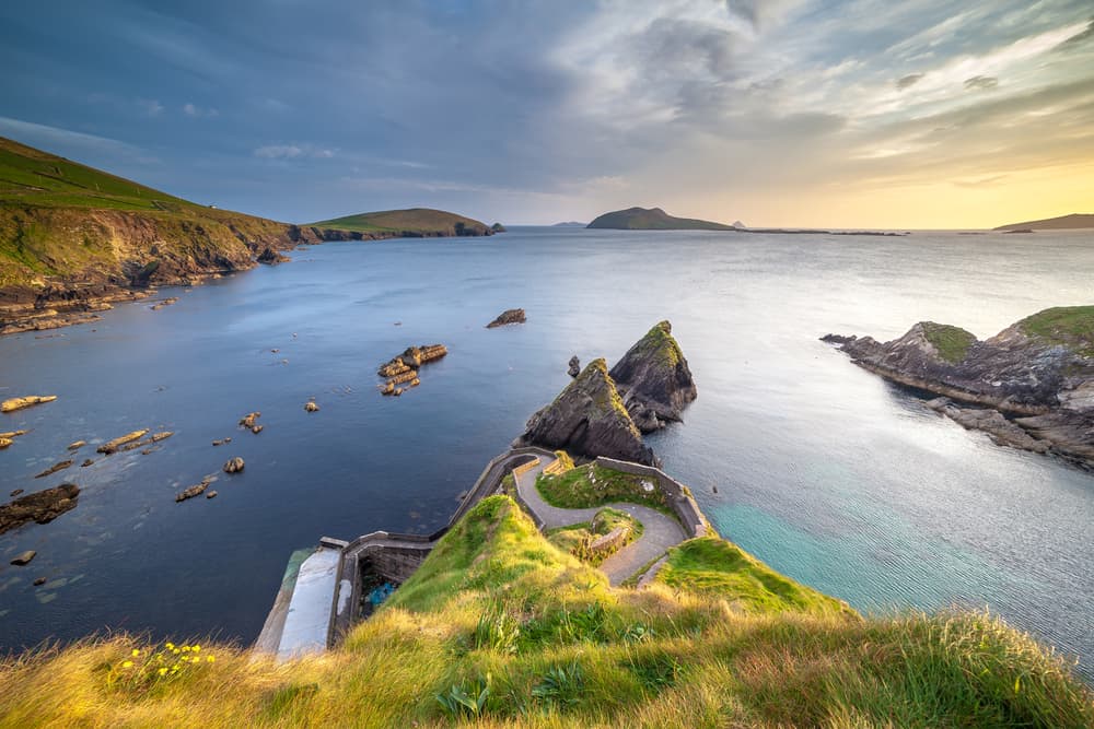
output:
POLYGON ((534 414, 520 440, 587 458, 608 456, 657 463, 642 443, 603 358, 590 362, 554 402, 534 414))

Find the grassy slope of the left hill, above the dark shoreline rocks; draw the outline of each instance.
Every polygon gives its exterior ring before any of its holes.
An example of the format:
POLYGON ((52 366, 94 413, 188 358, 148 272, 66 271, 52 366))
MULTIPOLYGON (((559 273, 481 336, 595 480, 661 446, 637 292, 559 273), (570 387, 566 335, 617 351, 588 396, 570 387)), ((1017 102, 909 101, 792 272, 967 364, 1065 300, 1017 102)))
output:
POLYGON ((130 236, 165 243, 183 261, 245 264, 244 240, 283 231, 0 138, 0 287, 85 271, 119 277, 115 244, 130 236))

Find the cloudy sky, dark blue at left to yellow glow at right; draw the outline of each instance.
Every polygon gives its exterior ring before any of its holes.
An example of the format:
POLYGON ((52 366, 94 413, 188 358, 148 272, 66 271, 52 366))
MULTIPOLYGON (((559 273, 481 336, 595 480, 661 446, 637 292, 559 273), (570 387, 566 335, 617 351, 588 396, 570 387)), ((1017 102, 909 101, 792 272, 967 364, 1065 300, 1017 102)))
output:
POLYGON ((0 63, 0 136, 298 223, 1094 212, 1091 0, 5 0, 0 63))

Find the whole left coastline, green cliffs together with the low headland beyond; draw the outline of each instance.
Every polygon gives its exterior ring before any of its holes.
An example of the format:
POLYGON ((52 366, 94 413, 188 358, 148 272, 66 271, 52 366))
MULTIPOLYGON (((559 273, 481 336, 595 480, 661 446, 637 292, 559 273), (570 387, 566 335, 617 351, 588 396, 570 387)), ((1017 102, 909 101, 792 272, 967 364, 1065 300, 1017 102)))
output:
POLYGON ((205 205, 0 137, 0 334, 94 321, 155 286, 277 263, 323 240, 490 235, 416 208, 294 225, 205 205))

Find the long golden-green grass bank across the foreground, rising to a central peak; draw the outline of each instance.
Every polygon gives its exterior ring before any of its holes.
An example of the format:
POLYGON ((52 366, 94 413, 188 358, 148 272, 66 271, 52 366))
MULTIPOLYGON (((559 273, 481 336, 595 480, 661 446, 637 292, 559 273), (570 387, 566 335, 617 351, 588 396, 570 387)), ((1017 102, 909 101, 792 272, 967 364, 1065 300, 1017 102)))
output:
POLYGON ((1069 666, 998 619, 863 620, 785 578, 743 589, 750 557, 696 541, 672 585, 612 589, 494 496, 339 650, 276 665, 86 640, 0 667, 0 724, 1094 726, 1069 666))

